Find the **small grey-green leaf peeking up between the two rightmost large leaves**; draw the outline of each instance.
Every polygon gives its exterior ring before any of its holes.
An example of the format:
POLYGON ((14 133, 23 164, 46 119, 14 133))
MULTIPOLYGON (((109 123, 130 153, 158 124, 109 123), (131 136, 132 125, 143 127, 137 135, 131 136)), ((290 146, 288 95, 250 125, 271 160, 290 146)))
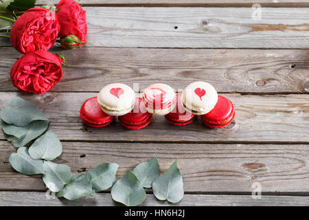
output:
POLYGON ((159 162, 156 157, 137 165, 132 171, 144 188, 151 188, 152 182, 160 176, 159 162))

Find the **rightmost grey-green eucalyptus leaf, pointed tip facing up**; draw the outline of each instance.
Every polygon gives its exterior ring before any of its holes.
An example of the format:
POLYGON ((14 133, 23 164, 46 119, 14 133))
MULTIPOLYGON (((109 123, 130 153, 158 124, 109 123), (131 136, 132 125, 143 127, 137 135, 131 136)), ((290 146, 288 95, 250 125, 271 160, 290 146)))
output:
POLYGON ((153 193, 159 200, 168 200, 172 203, 181 201, 183 198, 183 177, 177 160, 152 184, 153 193))

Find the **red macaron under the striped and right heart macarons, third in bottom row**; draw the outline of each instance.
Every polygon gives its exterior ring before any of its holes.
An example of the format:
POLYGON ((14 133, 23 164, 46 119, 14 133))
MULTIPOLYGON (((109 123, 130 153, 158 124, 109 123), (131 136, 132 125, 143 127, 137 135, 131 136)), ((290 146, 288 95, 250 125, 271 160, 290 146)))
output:
POLYGON ((182 126, 185 124, 190 124, 193 122, 194 118, 196 118, 196 115, 185 111, 183 106, 181 105, 181 94, 176 95, 176 107, 167 115, 165 115, 166 120, 168 122, 182 126))

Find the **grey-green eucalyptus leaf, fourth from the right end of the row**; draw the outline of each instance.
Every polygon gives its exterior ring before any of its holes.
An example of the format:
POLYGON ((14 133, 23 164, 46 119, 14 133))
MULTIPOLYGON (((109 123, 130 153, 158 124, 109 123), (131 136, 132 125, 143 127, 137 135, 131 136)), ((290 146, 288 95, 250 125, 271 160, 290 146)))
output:
POLYGON ((87 172, 87 177, 90 179, 95 192, 100 192, 113 186, 118 166, 118 164, 104 163, 87 172))

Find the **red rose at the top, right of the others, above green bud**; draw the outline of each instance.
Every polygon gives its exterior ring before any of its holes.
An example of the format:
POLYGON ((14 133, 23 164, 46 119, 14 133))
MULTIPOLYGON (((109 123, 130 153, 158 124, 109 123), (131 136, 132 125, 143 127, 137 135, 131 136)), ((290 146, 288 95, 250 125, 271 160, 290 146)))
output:
MULTIPOLYGON (((61 0, 57 5, 58 18, 60 22, 60 39, 68 35, 77 36, 80 46, 87 43, 87 21, 86 11, 79 3, 73 0, 61 0)), ((62 44, 63 47, 67 48, 62 44)))

